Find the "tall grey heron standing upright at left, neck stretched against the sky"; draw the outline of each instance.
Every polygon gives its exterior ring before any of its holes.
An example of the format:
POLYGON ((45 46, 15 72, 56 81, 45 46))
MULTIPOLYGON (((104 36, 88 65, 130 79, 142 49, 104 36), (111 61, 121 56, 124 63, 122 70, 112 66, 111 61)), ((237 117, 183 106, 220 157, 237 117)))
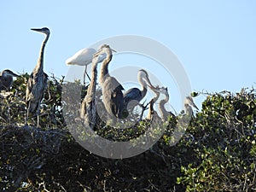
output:
POLYGON ((47 79, 48 75, 44 73, 44 47, 49 39, 49 29, 47 27, 43 27, 41 29, 32 29, 35 32, 43 32, 46 37, 44 38, 44 42, 41 46, 38 64, 33 69, 29 79, 27 81, 26 86, 26 105, 27 105, 27 113, 26 113, 26 123, 28 119, 29 113, 37 113, 38 114, 38 126, 39 126, 39 108, 40 103, 44 97, 44 90, 47 87, 47 79))

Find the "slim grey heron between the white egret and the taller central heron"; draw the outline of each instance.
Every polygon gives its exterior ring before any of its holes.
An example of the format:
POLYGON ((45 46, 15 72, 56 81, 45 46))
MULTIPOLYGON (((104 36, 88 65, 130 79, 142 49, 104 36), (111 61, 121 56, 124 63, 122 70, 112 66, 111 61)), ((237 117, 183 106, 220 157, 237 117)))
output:
POLYGON ((96 105, 95 105, 95 93, 96 93, 96 78, 97 78, 97 64, 99 56, 95 56, 92 59, 91 65, 91 80, 87 90, 87 94, 81 105, 81 119, 84 119, 84 125, 86 128, 93 128, 96 124, 96 105))

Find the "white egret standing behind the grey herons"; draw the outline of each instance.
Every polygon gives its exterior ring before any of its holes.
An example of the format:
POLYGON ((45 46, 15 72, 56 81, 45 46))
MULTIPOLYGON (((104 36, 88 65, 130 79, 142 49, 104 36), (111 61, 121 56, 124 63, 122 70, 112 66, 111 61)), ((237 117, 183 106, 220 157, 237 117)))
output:
MULTIPOLYGON (((84 84, 85 84, 85 75, 90 79, 87 73, 87 66, 90 65, 93 59, 93 55, 96 54, 96 49, 85 48, 80 49, 77 53, 66 60, 67 65, 78 65, 85 66, 84 68, 84 84)), ((102 62, 106 58, 106 54, 98 56, 98 62, 102 62)))

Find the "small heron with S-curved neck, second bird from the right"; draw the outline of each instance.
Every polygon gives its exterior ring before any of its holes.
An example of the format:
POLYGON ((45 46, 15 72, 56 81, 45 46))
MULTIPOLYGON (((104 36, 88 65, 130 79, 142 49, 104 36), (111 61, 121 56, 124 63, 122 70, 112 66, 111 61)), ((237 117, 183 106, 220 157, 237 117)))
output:
POLYGON ((167 87, 166 88, 165 87, 160 87, 160 88, 154 87, 153 90, 158 91, 166 96, 165 99, 162 99, 159 102, 159 110, 160 110, 161 118, 163 120, 167 120, 170 115, 175 116, 172 112, 166 111, 166 108, 165 108, 166 102, 169 101, 169 93, 168 93, 167 87))

